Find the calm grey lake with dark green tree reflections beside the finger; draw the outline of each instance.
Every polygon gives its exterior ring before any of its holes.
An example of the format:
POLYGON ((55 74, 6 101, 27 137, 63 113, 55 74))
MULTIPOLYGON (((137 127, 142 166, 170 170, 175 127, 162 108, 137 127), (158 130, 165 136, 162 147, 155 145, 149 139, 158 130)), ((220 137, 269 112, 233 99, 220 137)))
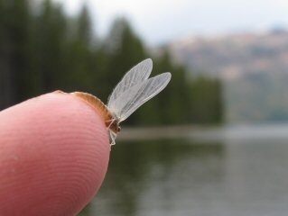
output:
POLYGON ((122 139, 85 216, 286 216, 288 126, 122 139), (207 139, 209 138, 209 139, 207 139))

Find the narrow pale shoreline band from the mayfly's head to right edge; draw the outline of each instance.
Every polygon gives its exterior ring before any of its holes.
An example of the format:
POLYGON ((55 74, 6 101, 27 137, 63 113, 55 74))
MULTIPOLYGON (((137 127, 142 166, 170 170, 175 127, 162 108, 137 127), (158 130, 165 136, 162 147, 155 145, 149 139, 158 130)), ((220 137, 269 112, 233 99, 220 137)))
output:
POLYGON ((117 139, 288 139, 288 123, 124 127, 117 139))

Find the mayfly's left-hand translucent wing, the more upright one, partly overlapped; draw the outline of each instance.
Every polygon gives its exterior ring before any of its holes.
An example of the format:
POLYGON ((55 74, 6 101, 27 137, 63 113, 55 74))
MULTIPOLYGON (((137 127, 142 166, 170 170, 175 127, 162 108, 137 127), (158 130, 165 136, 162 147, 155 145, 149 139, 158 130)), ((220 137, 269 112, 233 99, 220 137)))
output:
POLYGON ((139 85, 140 83, 144 82, 144 80, 150 76, 152 67, 152 59, 147 58, 130 69, 125 76, 123 76, 121 81, 116 85, 112 94, 109 96, 107 106, 115 107, 115 102, 121 94, 124 94, 127 89, 133 87, 134 85, 139 85))

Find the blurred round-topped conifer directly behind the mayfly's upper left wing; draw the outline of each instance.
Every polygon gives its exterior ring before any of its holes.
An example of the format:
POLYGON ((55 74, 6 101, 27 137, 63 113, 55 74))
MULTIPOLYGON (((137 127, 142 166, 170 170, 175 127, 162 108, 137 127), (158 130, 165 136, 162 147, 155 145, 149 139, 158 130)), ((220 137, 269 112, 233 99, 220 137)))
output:
POLYGON ((105 42, 105 49, 107 67, 103 82, 107 84, 107 88, 103 89, 102 94, 108 95, 125 72, 147 58, 147 54, 142 40, 124 18, 118 18, 113 23, 105 42))

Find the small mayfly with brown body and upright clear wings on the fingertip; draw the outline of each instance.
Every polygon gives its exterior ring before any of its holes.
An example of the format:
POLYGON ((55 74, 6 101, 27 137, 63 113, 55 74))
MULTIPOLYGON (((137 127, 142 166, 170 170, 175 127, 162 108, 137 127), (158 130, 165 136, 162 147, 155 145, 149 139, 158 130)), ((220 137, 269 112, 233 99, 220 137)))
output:
POLYGON ((125 121, 137 108, 168 85, 171 79, 169 72, 148 78, 152 67, 153 62, 150 58, 132 67, 108 97, 107 105, 92 94, 71 93, 91 104, 101 114, 106 123, 110 145, 116 144, 116 135, 121 130, 119 123, 125 121))

